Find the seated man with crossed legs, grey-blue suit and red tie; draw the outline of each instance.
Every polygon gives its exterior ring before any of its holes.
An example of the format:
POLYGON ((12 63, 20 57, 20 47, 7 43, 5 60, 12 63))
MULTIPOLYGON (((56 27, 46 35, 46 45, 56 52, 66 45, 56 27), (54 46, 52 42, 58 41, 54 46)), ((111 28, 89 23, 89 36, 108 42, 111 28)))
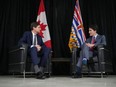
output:
POLYGON ((94 49, 99 44, 106 45, 106 39, 104 35, 97 34, 97 25, 91 25, 89 26, 89 35, 90 37, 85 41, 85 43, 81 47, 80 51, 80 57, 78 59, 77 65, 76 65, 76 77, 81 78, 81 68, 82 64, 87 64, 87 60, 89 60, 90 57, 93 57, 95 52, 94 49))

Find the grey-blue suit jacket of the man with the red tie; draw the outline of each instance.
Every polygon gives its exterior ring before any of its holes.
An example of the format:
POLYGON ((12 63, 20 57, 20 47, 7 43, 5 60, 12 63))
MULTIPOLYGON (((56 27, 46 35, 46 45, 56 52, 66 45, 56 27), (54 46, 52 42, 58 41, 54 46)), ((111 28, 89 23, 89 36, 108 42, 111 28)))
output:
MULTIPOLYGON (((89 37, 86 40, 86 43, 91 43, 91 40, 92 40, 92 37, 89 37)), ((95 44, 95 47, 98 46, 99 44, 106 45, 106 38, 105 38, 105 36, 104 35, 97 35, 94 44, 95 44)))

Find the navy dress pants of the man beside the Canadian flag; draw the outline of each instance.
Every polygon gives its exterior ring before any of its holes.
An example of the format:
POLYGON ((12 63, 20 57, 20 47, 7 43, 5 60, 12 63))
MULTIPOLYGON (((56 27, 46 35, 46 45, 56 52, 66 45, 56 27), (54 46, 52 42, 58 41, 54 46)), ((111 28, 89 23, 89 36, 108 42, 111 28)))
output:
POLYGON ((46 66, 49 52, 50 50, 47 47, 42 48, 40 52, 37 51, 36 47, 30 48, 30 55, 36 73, 42 71, 43 67, 46 66))

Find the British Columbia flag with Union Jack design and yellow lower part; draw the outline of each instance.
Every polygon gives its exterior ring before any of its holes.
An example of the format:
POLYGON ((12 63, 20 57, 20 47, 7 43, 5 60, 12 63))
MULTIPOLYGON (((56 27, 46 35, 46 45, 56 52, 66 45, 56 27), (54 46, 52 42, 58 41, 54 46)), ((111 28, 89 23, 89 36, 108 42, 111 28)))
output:
POLYGON ((85 42, 86 37, 84 34, 84 27, 81 17, 81 11, 79 6, 79 0, 76 0, 75 9, 74 9, 74 16, 72 21, 70 39, 69 39, 69 48, 80 48, 81 45, 85 42))

